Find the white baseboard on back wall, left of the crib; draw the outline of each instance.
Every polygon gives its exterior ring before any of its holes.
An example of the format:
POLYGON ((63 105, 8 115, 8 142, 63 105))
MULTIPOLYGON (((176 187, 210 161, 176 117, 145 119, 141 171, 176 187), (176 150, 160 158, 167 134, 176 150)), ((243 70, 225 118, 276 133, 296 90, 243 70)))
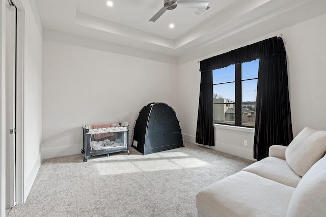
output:
POLYGON ((42 147, 42 159, 57 158, 81 153, 83 145, 42 147))

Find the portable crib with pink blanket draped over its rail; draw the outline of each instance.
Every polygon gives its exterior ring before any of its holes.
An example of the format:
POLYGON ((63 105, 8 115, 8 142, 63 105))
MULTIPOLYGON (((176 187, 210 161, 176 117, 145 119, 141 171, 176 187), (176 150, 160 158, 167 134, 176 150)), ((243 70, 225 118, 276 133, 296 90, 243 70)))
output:
POLYGON ((87 162, 90 156, 100 154, 127 151, 129 152, 129 125, 127 122, 110 123, 98 125, 102 128, 97 128, 95 125, 83 126, 83 149, 85 153, 83 159, 87 162), (104 126, 104 127, 103 127, 104 126))

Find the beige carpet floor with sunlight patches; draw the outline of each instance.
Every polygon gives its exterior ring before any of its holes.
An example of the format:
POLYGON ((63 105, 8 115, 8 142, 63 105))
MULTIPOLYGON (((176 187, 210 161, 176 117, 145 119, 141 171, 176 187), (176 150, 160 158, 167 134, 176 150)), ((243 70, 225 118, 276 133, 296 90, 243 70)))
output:
POLYGON ((191 143, 143 156, 84 154, 42 162, 25 204, 9 216, 197 216, 196 194, 252 161, 191 143))

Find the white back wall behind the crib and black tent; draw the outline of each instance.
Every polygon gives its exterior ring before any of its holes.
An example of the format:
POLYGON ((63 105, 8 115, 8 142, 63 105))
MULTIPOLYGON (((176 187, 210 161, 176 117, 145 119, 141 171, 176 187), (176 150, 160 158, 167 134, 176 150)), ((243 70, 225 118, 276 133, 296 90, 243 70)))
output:
POLYGON ((139 56, 126 47, 44 30, 42 158, 80 153, 83 124, 127 121, 131 137, 144 105, 164 102, 178 113, 177 65, 165 63, 172 57, 139 56))

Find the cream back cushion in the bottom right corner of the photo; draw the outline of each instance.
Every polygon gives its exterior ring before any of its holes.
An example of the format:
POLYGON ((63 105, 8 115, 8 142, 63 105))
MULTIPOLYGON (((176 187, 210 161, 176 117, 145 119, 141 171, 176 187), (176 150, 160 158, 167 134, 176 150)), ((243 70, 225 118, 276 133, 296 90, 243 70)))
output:
POLYGON ((298 183, 287 216, 326 216, 326 157, 314 164, 298 183))

